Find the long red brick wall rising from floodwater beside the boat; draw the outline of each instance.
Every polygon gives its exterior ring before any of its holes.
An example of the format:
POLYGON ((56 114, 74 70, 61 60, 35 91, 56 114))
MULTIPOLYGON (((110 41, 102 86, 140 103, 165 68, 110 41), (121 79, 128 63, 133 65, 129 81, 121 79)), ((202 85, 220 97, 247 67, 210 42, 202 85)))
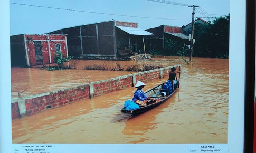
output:
MULTIPOLYGON (((124 75, 103 81, 85 83, 72 88, 15 98, 12 99, 12 119, 30 116, 48 109, 62 107, 82 99, 98 97, 113 91, 130 88, 135 85, 138 80, 146 83, 165 78, 168 76, 171 67, 172 66, 124 75)), ((179 65, 175 67, 179 71, 179 65)))

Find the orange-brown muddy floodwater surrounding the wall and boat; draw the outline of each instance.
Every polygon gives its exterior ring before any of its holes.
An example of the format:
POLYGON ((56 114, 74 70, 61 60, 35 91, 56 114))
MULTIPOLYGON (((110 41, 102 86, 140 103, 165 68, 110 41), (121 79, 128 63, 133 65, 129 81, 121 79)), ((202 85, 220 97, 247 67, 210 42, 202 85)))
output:
MULTIPOLYGON (((193 58, 188 65, 180 57, 153 59, 137 63, 182 66, 180 88, 165 103, 130 116, 120 110, 135 89, 115 91, 12 120, 13 143, 227 143, 229 60, 193 58)), ((26 89, 22 95, 29 95, 136 73, 82 70, 92 63, 115 66, 116 62, 122 66, 136 63, 79 60, 76 70, 11 68, 12 98, 17 97, 17 90, 26 89)), ((167 79, 146 83, 144 91, 167 79)))

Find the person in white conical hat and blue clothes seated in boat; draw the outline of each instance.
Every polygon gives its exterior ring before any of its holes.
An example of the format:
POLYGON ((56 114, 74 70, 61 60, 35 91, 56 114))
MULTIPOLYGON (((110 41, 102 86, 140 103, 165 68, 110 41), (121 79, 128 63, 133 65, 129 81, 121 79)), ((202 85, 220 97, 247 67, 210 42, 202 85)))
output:
POLYGON ((132 98, 131 101, 135 102, 136 100, 139 100, 139 101, 143 101, 143 102, 148 102, 148 100, 153 100, 153 99, 147 97, 147 95, 142 90, 145 85, 146 84, 141 81, 138 81, 136 83, 134 88, 137 88, 137 90, 135 91, 134 97, 132 98))

